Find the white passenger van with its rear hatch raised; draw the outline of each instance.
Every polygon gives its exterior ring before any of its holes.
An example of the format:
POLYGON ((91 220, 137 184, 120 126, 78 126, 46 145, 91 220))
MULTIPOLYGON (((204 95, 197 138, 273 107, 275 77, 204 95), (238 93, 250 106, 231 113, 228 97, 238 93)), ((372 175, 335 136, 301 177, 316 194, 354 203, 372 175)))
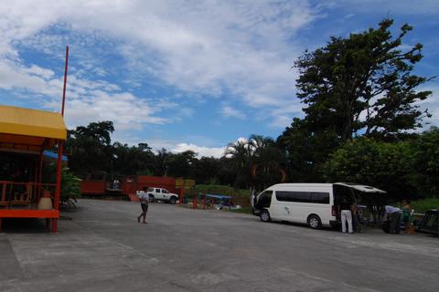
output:
POLYGON ((271 220, 308 224, 311 228, 335 226, 339 222, 337 202, 354 192, 386 193, 377 188, 352 183, 279 183, 252 198, 253 214, 263 222, 271 220))

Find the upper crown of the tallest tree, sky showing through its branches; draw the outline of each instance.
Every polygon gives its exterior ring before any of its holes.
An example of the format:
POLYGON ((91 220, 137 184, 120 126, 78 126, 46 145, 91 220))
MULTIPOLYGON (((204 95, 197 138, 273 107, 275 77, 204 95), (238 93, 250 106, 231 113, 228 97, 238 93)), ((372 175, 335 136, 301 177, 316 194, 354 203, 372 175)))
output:
POLYGON ((417 90, 429 79, 412 71, 423 45, 403 50, 402 39, 412 26, 403 25, 393 37, 392 24, 384 19, 376 29, 331 37, 326 47, 299 57, 297 97, 306 105, 308 123, 335 130, 341 141, 359 130, 388 137, 421 127, 428 113, 415 102, 432 92, 417 90))

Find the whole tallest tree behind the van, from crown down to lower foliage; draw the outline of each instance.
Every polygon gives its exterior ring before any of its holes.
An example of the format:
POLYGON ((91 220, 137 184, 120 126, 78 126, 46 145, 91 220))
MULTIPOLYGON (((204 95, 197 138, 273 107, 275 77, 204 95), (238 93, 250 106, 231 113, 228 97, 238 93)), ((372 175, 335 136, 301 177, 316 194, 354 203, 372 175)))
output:
POLYGON ((431 91, 418 90, 431 80, 413 74, 422 45, 402 47, 412 26, 391 35, 393 20, 378 28, 331 37, 327 46, 306 51, 295 62, 297 98, 305 104, 304 119, 294 119, 278 138, 288 153, 293 181, 323 180, 323 164, 337 147, 365 135, 397 141, 421 127, 429 116, 417 101, 431 91))

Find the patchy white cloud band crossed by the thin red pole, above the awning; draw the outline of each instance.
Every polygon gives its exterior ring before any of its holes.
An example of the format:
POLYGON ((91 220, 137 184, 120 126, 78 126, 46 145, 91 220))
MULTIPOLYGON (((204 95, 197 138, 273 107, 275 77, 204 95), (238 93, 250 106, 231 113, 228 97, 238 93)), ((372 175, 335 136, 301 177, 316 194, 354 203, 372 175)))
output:
MULTIPOLYGON (((34 102, 59 111, 62 80, 53 75, 53 71, 45 68, 35 65, 26 68, 0 58, 0 89, 19 89, 29 96, 37 95, 34 102)), ((75 75, 68 79, 65 118, 70 128, 96 120, 112 120, 116 130, 141 130, 145 124, 168 122, 156 116, 166 108, 162 101, 136 97, 103 80, 91 81, 75 75)))

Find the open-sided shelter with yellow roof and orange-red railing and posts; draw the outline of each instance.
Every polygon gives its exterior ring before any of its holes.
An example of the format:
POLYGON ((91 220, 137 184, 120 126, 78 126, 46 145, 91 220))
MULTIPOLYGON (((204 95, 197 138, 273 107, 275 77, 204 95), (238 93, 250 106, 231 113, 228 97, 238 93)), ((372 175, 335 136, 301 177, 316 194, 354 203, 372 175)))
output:
POLYGON ((60 113, 0 106, 0 227, 2 218, 46 218, 52 232, 57 232, 66 138, 60 113), (42 182, 45 151, 54 149, 58 151, 56 180, 42 182), (51 206, 38 208, 48 192, 51 206))

